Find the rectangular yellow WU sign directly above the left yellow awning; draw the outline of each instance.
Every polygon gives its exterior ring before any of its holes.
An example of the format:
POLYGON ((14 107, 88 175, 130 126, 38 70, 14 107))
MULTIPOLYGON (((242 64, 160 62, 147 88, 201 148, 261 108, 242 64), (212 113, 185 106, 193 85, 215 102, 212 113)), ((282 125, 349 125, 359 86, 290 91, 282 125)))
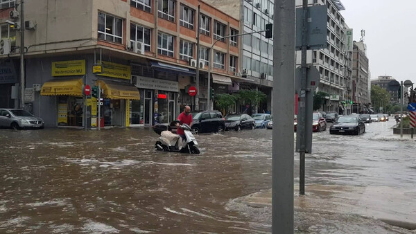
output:
POLYGON ((52 76, 85 75, 85 60, 52 62, 52 76))

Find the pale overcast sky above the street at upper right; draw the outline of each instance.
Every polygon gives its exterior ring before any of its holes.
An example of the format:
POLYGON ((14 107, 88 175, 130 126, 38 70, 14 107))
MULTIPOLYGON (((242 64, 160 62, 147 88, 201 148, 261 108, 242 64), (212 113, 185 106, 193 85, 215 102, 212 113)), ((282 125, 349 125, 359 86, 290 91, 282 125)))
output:
POLYGON ((371 78, 416 83, 416 0, 341 0, 345 23, 359 41, 365 30, 371 78))

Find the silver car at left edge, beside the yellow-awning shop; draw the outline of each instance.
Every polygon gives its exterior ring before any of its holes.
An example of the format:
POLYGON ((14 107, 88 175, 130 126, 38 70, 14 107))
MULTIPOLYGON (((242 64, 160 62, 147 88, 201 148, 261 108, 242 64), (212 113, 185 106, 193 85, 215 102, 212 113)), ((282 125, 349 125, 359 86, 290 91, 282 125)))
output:
POLYGON ((44 121, 24 109, 0 109, 0 127, 43 129, 44 121))

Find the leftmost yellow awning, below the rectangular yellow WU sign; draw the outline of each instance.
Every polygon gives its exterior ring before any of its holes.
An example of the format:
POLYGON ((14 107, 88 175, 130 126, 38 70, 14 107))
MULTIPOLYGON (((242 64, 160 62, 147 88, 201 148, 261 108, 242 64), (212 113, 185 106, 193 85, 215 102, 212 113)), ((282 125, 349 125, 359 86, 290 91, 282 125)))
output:
POLYGON ((40 91, 42 96, 69 95, 83 96, 83 78, 56 79, 45 82, 40 91))

